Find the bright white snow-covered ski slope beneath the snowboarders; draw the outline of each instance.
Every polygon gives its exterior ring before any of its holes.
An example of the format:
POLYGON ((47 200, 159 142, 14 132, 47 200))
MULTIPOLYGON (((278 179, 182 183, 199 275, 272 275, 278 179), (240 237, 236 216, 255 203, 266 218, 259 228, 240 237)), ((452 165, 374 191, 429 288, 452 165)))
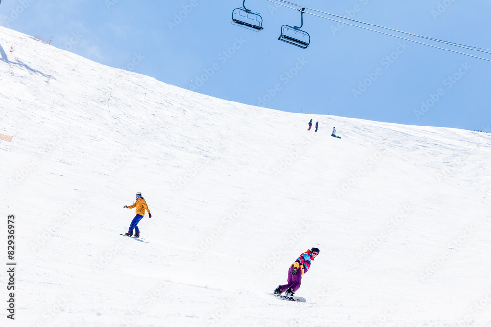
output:
POLYGON ((491 324, 489 134, 183 98, 2 27, 0 54, 16 326, 491 324), (265 294, 312 246, 307 302, 265 294))

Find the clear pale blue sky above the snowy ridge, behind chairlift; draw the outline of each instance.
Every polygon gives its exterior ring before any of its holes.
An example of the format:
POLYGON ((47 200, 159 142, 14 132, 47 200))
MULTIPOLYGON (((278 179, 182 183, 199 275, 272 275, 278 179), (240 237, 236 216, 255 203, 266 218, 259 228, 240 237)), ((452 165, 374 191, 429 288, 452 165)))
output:
MULTIPOLYGON (((491 49, 490 0, 292 2, 491 49)), ((55 47, 184 89, 192 79, 192 90, 226 100, 288 112, 491 131, 490 61, 310 14, 304 14, 302 29, 311 43, 301 49, 278 41, 282 25, 300 26, 300 12, 248 0, 246 7, 263 18, 264 29, 254 32, 231 24, 232 10, 241 6, 242 0, 2 0, 0 25, 52 38, 55 47)), ((397 35, 491 60, 488 53, 397 35)))

